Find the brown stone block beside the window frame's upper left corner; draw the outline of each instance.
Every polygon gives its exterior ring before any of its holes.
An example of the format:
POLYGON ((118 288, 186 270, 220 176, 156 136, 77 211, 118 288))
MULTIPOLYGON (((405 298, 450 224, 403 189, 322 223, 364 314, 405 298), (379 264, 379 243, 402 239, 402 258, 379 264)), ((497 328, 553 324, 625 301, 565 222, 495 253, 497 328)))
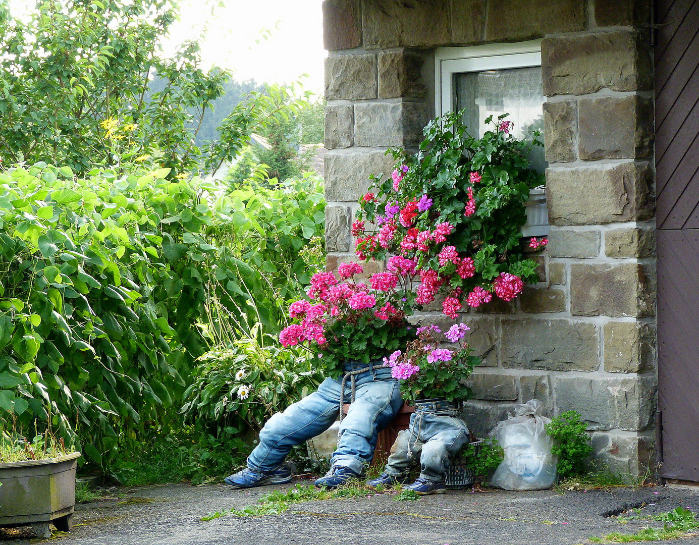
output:
POLYGON ((382 51, 379 54, 379 98, 424 98, 426 87, 421 83, 424 59, 415 52, 382 51))

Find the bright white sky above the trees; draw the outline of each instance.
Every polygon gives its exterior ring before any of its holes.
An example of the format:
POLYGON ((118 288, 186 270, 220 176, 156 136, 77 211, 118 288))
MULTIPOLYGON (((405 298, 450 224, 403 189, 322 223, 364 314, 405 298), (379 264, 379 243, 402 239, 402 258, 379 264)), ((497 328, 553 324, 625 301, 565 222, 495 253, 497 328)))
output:
MULTIPOLYGON (((13 13, 26 13, 35 0, 10 0, 13 13)), ((206 31, 201 54, 207 65, 231 69, 237 80, 294 82, 322 92, 321 0, 182 0, 180 21, 171 26, 166 54, 206 31), (213 13, 212 13, 213 11, 213 13)))

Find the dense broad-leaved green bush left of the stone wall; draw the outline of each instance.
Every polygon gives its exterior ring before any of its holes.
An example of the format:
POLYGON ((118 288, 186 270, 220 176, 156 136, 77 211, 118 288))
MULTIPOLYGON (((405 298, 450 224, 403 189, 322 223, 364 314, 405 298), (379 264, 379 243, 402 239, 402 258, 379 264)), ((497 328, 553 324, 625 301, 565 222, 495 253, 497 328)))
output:
POLYGON ((281 260, 295 251, 309 273, 322 263, 322 252, 299 252, 322 237, 317 180, 229 197, 168 173, 0 172, 0 419, 50 417, 65 435, 77 426, 76 446, 103 465, 180 409, 210 343, 211 289, 274 332, 278 298, 306 282, 281 260))

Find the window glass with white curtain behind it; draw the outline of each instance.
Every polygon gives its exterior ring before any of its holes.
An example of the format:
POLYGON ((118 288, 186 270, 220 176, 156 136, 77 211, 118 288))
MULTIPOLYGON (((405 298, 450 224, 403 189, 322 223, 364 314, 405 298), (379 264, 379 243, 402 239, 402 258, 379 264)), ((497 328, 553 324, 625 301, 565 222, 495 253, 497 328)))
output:
MULTIPOLYGON (((543 132, 541 66, 455 74, 454 92, 456 110, 466 108, 463 123, 473 136, 483 136, 492 127, 483 123, 486 117, 497 119, 505 112, 514 123, 510 132, 516 138, 531 138, 533 130, 543 132)), ((532 168, 543 172, 547 166, 544 148, 533 147, 529 162, 532 168)))

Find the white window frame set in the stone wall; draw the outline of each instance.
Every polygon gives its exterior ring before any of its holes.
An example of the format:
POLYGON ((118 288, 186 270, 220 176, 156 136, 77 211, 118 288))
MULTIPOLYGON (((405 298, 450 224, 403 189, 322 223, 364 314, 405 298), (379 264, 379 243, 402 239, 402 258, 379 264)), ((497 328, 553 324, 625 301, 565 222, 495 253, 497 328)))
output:
POLYGON ((541 40, 435 51, 435 112, 454 111, 454 74, 541 66, 541 40))

